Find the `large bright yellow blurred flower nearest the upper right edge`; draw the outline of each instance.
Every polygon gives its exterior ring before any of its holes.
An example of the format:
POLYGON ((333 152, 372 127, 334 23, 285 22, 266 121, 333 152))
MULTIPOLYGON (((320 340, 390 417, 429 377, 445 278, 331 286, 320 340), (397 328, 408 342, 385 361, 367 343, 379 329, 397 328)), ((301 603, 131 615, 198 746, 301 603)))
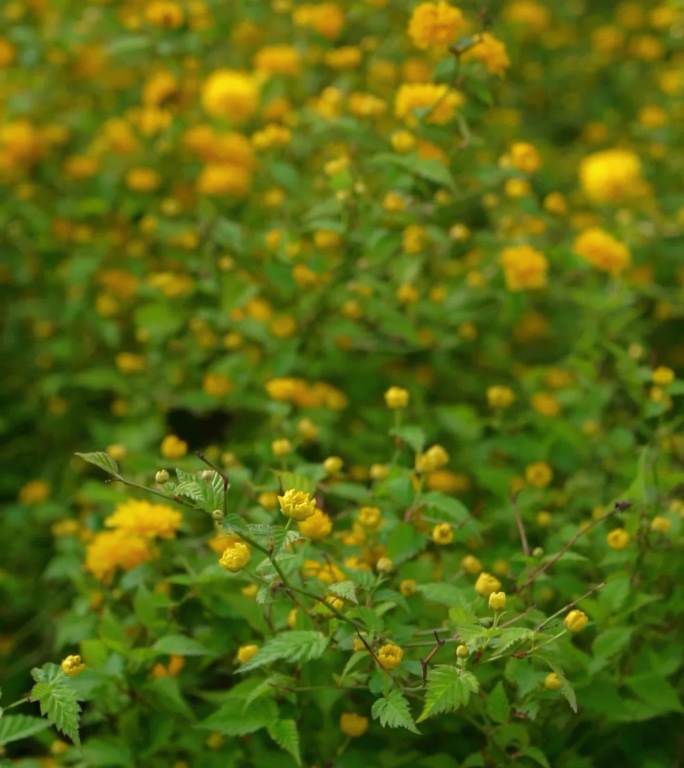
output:
POLYGON ((595 203, 615 203, 644 190, 641 162, 625 149, 606 149, 585 157, 580 164, 580 183, 595 203))

